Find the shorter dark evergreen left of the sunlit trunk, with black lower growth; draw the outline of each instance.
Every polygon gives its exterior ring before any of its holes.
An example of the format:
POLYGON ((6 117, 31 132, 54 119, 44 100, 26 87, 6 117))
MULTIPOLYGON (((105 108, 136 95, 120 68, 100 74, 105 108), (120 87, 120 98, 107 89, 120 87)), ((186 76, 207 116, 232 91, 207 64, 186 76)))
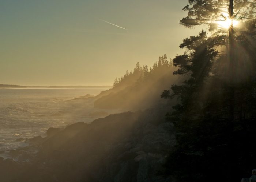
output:
POLYGON ((235 95, 235 108, 242 106, 243 112, 230 120, 230 89, 219 71, 216 75, 211 72, 215 62, 223 60, 214 49, 214 39, 202 31, 185 39, 181 47, 187 52, 173 59, 173 65, 179 67, 174 74, 189 77, 162 94, 180 98, 167 115, 177 131, 176 150, 167 160, 167 170, 178 181, 240 180, 256 163, 256 82, 236 85, 242 89, 235 95))

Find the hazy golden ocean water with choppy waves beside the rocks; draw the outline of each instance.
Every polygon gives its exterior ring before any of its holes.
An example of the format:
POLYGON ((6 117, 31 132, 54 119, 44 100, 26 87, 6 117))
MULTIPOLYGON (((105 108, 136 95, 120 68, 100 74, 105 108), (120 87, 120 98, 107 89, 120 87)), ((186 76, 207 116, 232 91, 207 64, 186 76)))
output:
POLYGON ((93 102, 69 100, 106 89, 0 89, 0 152, 28 145, 26 138, 45 136, 49 127, 94 120, 87 116, 93 102))

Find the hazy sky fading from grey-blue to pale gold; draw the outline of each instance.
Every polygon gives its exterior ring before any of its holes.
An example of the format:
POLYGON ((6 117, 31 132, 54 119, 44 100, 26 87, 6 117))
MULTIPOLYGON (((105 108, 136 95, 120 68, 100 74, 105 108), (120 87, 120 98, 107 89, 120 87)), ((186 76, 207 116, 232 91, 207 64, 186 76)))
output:
POLYGON ((179 25, 186 4, 0 0, 0 84, 112 85, 136 62, 150 67, 184 52, 182 39, 202 29, 179 25))

